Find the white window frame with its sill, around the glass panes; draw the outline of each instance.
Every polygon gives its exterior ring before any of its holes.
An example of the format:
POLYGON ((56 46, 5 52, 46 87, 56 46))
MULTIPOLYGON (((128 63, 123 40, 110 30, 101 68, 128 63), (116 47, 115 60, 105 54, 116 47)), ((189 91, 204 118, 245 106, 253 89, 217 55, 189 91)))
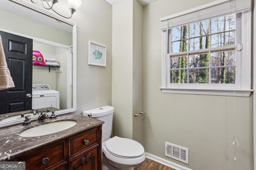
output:
MULTIPOLYGON (((236 3, 244 3, 243 1, 248 0, 236 0, 236 3)), ((223 3, 225 5, 229 5, 230 0, 218 0, 215 2, 212 2, 210 4, 205 4, 203 6, 199 6, 197 8, 193 8, 191 10, 175 14, 172 16, 168 16, 165 18, 162 18, 161 21, 161 29, 162 29, 162 86, 160 89, 163 93, 178 93, 178 94, 204 94, 204 95, 218 95, 218 96, 242 96, 242 97, 248 97, 250 96, 250 93, 253 91, 251 90, 251 10, 238 10, 236 12, 241 12, 241 44, 242 44, 242 50, 241 50, 241 60, 237 61, 237 64, 240 63, 238 66, 238 70, 240 71, 240 81, 236 82, 236 84, 171 84, 168 80, 168 75, 170 76, 170 54, 168 54, 168 22, 170 19, 174 18, 174 26, 178 26, 181 21, 185 22, 182 18, 183 16, 187 17, 193 17, 191 14, 198 13, 200 10, 202 10, 202 13, 204 11, 207 12, 208 9, 213 10, 214 8, 218 8, 218 5, 223 6, 223 3), (221 2, 221 3, 220 3, 221 2), (181 18, 181 21, 178 20, 181 18), (177 25, 175 25, 177 24, 177 25)), ((240 5, 241 6, 241 5, 240 5)), ((218 8, 220 9, 220 8, 218 8)), ((214 9, 216 10, 216 9, 214 9)), ((216 13, 218 14, 218 13, 216 13)), ((228 14, 228 13, 227 13, 228 14)), ((206 16, 206 15, 204 15, 206 16)), ((210 14, 212 17, 212 15, 210 14)), ((208 16, 206 16, 208 17, 208 16)), ((217 17, 217 16, 216 16, 217 17)), ((206 18, 208 19, 208 18, 206 18)), ((183 23, 188 24, 188 23, 183 23)), ((239 31, 239 30, 237 30, 239 31)), ((237 48, 240 48, 237 47, 237 48)))

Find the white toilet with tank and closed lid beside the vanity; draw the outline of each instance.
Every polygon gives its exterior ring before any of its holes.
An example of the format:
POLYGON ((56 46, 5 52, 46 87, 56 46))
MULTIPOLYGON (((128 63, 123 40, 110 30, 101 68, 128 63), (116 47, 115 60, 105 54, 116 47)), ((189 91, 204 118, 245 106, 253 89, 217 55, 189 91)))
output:
POLYGON ((146 158, 144 147, 132 139, 111 136, 114 107, 83 111, 84 116, 104 121, 102 125, 103 170, 133 170, 146 158))

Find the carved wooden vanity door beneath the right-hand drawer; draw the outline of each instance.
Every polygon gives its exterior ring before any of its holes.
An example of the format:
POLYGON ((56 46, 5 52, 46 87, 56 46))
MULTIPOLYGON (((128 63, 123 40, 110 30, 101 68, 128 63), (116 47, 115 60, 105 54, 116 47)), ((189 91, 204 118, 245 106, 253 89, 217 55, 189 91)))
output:
POLYGON ((98 170, 98 147, 78 156, 70 162, 70 170, 98 170))

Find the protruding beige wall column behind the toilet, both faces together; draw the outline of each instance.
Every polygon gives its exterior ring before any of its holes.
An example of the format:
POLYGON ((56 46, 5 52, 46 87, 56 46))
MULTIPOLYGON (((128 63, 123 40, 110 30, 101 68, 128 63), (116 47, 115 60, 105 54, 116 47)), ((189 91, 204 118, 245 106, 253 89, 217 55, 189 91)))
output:
POLYGON ((143 6, 122 0, 113 6, 112 106, 114 135, 142 142, 143 6))

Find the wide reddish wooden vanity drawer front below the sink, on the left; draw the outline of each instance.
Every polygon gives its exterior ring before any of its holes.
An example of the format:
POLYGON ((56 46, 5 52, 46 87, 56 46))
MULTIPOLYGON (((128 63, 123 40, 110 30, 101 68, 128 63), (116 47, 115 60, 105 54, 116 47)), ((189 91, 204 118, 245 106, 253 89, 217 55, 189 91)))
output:
MULTIPOLYGON (((38 149, 36 152, 28 152, 22 156, 15 158, 16 161, 26 161, 26 169, 41 170, 41 169, 56 169, 57 167, 67 163, 67 143, 61 141, 49 145, 45 148, 38 149)), ((60 169, 65 169, 62 166, 60 169)))

